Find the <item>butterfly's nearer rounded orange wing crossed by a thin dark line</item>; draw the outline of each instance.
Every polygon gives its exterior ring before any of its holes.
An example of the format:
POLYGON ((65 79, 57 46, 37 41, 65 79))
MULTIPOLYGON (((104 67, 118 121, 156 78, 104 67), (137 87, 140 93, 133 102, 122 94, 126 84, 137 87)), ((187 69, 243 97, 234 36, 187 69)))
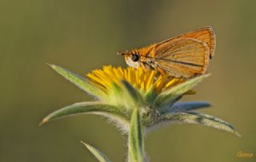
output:
POLYGON ((152 52, 155 65, 173 77, 194 77, 205 73, 209 65, 209 46, 193 38, 166 41, 152 52))

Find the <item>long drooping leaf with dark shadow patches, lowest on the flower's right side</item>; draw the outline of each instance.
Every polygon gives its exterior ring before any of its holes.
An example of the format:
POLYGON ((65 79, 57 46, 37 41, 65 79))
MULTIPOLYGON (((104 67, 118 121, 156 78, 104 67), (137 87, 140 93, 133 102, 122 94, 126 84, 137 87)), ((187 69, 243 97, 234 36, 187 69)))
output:
POLYGON ((226 132, 233 132, 237 136, 240 136, 231 124, 204 113, 168 113, 163 114, 159 121, 170 121, 178 124, 201 124, 207 127, 218 128, 226 132))

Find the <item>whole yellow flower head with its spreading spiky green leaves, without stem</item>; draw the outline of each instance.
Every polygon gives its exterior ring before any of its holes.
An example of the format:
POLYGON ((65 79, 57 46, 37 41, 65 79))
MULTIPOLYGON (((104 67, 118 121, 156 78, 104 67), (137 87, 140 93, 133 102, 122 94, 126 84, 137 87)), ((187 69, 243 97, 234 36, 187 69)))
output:
POLYGON ((81 113, 94 113, 108 117, 123 131, 130 128, 134 109, 141 115, 146 130, 162 122, 202 124, 238 134, 232 125, 216 117, 191 112, 209 107, 206 102, 177 102, 209 74, 190 79, 162 75, 150 69, 104 66, 87 74, 87 78, 58 65, 50 65, 55 71, 80 89, 96 97, 97 101, 85 101, 66 106, 45 117, 41 124, 60 117, 81 113))

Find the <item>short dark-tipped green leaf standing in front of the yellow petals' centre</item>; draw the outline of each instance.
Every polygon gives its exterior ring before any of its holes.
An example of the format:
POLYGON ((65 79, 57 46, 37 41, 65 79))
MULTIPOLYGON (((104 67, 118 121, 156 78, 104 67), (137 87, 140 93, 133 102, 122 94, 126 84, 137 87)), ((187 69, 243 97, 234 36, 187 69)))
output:
POLYGON ((134 89, 128 81, 122 81, 122 90, 124 93, 124 100, 127 101, 130 107, 142 107, 144 105, 143 97, 137 89, 134 89))

